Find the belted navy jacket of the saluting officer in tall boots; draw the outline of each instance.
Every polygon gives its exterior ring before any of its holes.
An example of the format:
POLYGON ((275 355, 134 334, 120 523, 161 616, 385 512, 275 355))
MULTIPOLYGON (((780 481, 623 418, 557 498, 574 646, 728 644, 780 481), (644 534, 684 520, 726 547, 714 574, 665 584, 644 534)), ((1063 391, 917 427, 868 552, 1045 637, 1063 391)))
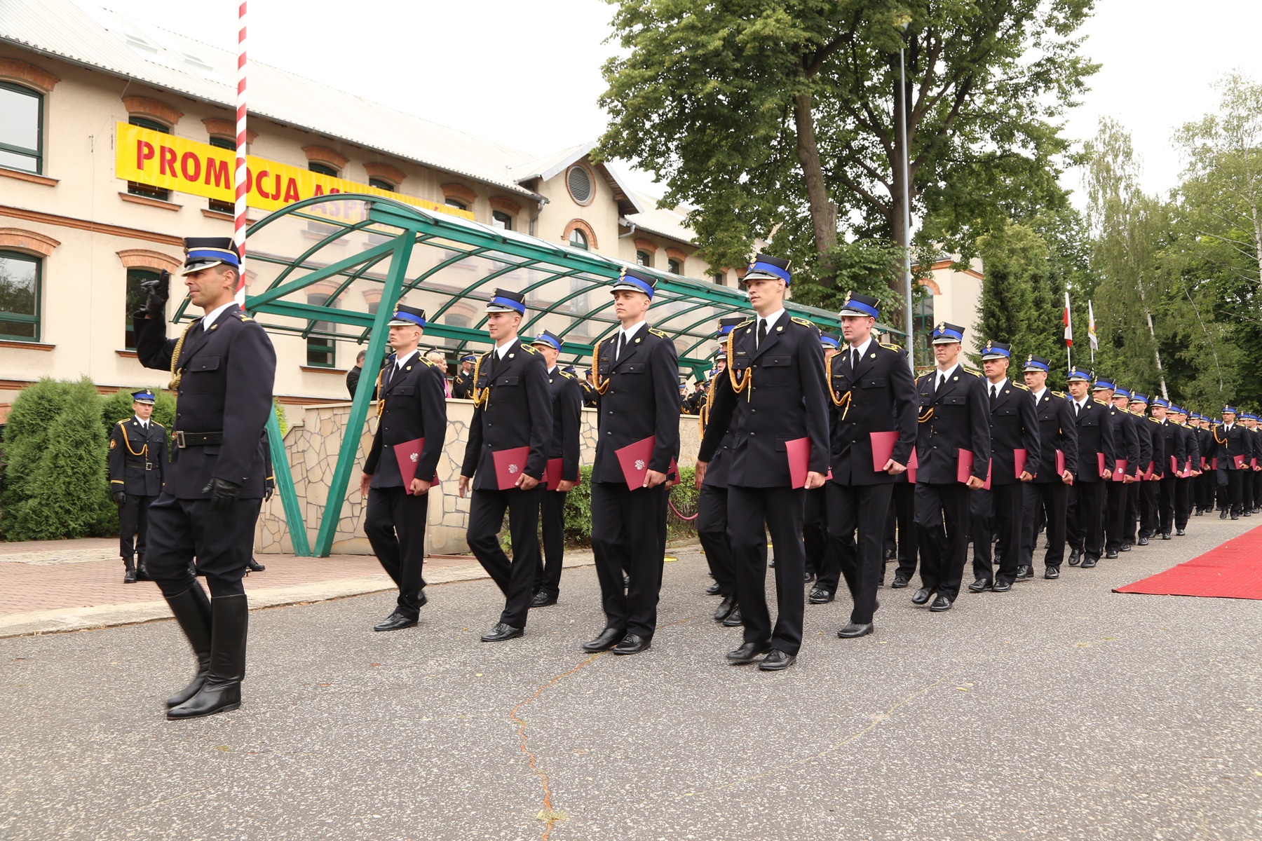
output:
MULTIPOLYGON (((169 371, 175 339, 164 320, 136 318, 136 357, 146 368, 169 371)), ((268 468, 259 440, 271 409, 276 352, 252 318, 232 304, 211 329, 194 322, 186 334, 175 367, 175 445, 167 470, 165 492, 178 499, 207 499, 212 478, 241 485, 241 499, 261 499, 268 468), (196 333, 196 335, 194 335, 196 333), (222 432, 212 446, 179 446, 183 432, 222 432)))

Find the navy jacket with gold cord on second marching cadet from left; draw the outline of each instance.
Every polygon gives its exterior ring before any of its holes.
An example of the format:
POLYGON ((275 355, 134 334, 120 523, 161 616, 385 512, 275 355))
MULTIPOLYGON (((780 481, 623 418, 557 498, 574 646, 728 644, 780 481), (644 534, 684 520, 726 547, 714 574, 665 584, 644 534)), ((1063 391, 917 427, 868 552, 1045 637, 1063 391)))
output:
MULTIPOLYGON (((529 446, 524 473, 543 479, 551 440, 551 397, 544 358, 514 339, 491 373, 491 354, 483 353, 477 388, 488 388, 486 402, 473 410, 461 475, 473 477, 475 490, 498 490, 493 453, 529 446)), ((425 444, 429 444, 427 440, 425 444)))

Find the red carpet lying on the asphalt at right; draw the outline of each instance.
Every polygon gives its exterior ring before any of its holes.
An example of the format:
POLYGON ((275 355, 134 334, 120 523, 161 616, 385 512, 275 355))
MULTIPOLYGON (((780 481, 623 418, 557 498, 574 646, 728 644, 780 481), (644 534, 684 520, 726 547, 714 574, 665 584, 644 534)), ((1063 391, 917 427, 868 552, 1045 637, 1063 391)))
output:
POLYGON ((1262 526, 1114 593, 1262 599, 1262 526))

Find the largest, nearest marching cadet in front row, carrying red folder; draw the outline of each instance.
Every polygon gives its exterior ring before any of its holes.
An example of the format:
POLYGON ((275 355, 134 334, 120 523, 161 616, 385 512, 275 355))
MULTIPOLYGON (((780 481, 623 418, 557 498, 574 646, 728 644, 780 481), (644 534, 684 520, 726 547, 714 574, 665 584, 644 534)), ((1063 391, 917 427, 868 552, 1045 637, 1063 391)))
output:
POLYGON ((805 490, 828 470, 824 354, 814 324, 784 308, 789 261, 757 255, 743 279, 756 313, 728 334, 726 376, 714 381, 711 422, 697 454, 704 480, 723 436, 736 441, 728 465, 727 531, 745 620, 745 644, 727 654, 733 666, 781 671, 801 647, 801 542, 805 490), (766 601, 764 547, 776 550, 776 623, 766 601))

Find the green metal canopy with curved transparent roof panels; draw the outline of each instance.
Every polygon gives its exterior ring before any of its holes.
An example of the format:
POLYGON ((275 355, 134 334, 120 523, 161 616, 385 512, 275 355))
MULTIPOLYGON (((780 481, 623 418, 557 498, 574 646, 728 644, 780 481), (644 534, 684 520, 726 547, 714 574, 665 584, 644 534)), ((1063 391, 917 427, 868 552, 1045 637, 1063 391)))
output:
MULTIPOLYGON (((607 286, 622 269, 632 266, 462 216, 376 195, 337 193, 289 204, 250 226, 251 289, 261 289, 260 280, 266 287, 246 296, 246 309, 273 333, 366 342, 366 359, 371 361, 382 358, 386 323, 395 304, 404 300, 427 311, 427 344, 461 353, 491 344, 483 308, 491 290, 500 287, 525 296, 521 335, 551 330, 562 338, 563 363, 581 362, 618 327, 607 286)), ((658 277, 649 323, 674 339, 681 369, 708 369, 718 347, 713 338, 718 319, 752 311, 745 293, 640 270, 658 277)), ((184 314, 186 306, 187 299, 177 322, 192 318, 184 314)), ((823 330, 840 329, 833 313, 793 303, 786 309, 823 330)), ((365 367, 375 369, 371 363, 365 367)), ((374 377, 360 378, 348 429, 363 427, 374 382, 374 377)), ((275 419, 269 434, 273 453, 283 453, 275 419)), ((332 498, 312 547, 288 459, 274 459, 294 554, 329 554, 358 445, 358 435, 342 439, 332 498)))

